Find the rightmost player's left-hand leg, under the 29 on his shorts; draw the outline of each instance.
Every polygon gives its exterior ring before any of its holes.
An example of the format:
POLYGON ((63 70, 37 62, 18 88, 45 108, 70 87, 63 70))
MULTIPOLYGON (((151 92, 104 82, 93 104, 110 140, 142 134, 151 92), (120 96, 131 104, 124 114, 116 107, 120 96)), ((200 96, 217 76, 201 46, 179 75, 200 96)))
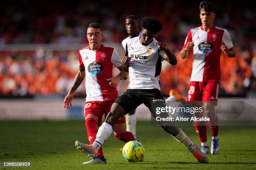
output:
MULTIPOLYGON (((187 100, 191 102, 193 107, 201 107, 202 106, 202 82, 190 82, 189 85, 189 91, 187 94, 187 100)), ((195 114, 196 117, 202 117, 203 113, 197 113, 195 114)), ((205 121, 195 121, 195 130, 197 132, 198 138, 201 142, 202 145, 202 152, 203 153, 208 153, 209 152, 209 147, 207 143, 207 127, 205 125, 205 121)))

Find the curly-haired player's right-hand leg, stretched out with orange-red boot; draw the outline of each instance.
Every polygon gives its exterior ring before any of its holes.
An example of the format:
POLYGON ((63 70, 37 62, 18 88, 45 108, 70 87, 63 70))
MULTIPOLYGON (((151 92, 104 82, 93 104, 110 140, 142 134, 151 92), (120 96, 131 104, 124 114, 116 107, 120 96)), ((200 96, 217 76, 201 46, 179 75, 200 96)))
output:
MULTIPOLYGON (((143 103, 151 111, 152 116, 156 118, 156 116, 159 116, 156 115, 156 108, 166 107, 165 101, 161 96, 161 92, 157 89, 153 89, 151 90, 151 92, 147 92, 147 90, 145 90, 145 93, 146 95, 143 95, 143 103)), ((168 116, 168 112, 160 113, 160 117, 168 116)), ((200 148, 195 145, 180 128, 172 125, 164 125, 164 122, 163 124, 161 124, 161 128, 163 128, 167 133, 171 134, 172 137, 175 138, 177 141, 183 143, 200 163, 208 163, 207 156, 201 152, 200 148)))

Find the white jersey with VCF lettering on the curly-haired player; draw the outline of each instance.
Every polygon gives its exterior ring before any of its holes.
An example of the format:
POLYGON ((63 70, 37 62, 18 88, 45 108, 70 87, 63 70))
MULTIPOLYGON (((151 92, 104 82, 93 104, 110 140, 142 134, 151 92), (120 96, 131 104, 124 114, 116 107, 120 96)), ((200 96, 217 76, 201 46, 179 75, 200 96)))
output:
POLYGON ((126 44, 125 56, 131 57, 128 89, 160 90, 158 75, 165 52, 158 49, 155 39, 147 46, 141 45, 139 40, 140 37, 134 37, 126 44))

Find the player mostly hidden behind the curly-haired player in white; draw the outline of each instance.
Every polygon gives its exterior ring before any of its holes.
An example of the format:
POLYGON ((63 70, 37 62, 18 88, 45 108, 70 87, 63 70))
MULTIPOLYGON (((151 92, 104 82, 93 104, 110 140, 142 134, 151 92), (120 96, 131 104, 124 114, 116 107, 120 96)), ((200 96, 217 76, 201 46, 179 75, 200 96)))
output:
MULTIPOLYGON (((125 50, 126 43, 129 39, 134 38, 134 37, 139 37, 141 36, 141 32, 139 31, 139 23, 138 23, 138 17, 136 15, 128 15, 125 18, 125 30, 128 33, 128 37, 126 37, 122 41, 122 46, 125 50)), ((135 115, 135 110, 131 110, 126 114, 125 120, 126 120, 126 130, 128 132, 131 132, 136 138, 136 115, 135 115)))

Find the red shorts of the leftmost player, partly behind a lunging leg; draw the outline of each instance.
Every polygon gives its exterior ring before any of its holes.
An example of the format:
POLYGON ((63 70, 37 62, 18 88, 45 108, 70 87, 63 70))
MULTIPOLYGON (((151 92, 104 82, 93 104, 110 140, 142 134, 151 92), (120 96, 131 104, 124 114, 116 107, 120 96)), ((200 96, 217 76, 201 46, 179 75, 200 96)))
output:
MULTIPOLYGON (((87 118, 88 114, 95 115, 99 117, 97 125, 101 125, 102 116, 105 115, 105 119, 110 112, 111 106, 115 100, 108 100, 108 101, 90 101, 86 102, 84 105, 84 118, 87 118)), ((89 116, 95 118, 94 116, 89 116)), ((96 118, 95 118, 96 119, 96 118)), ((125 123, 125 117, 120 117, 115 124, 125 123)))

